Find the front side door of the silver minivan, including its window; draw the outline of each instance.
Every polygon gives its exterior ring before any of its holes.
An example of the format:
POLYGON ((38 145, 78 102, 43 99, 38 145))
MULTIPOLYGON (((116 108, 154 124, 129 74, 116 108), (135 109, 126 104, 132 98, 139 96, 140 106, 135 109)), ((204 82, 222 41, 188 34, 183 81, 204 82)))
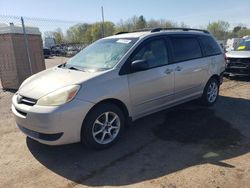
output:
POLYGON ((157 38, 143 43, 130 58, 147 60, 149 69, 128 75, 133 114, 141 116, 170 103, 174 94, 174 69, 169 65, 166 41, 157 38))

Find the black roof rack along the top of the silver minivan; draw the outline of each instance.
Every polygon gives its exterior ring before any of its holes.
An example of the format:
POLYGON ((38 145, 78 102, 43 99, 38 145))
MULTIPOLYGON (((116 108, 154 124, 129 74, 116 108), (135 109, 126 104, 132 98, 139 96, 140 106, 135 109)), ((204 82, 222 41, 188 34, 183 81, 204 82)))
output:
POLYGON ((170 27, 170 28, 145 28, 145 29, 139 29, 139 30, 135 30, 135 31, 125 31, 125 32, 119 32, 116 33, 115 35, 120 35, 120 34, 124 34, 124 33, 134 33, 134 32, 143 32, 143 31, 150 31, 151 33, 155 33, 155 32, 160 32, 160 31, 171 31, 171 30, 180 30, 180 31, 199 31, 199 32, 203 32, 203 33, 207 33, 209 34, 209 31, 204 30, 204 29, 192 29, 192 28, 182 28, 182 27, 170 27))

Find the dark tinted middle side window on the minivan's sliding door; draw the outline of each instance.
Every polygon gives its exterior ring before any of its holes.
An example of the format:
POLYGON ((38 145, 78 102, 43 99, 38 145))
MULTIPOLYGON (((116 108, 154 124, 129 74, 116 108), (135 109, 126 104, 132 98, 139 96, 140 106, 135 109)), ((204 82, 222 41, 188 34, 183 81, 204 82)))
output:
POLYGON ((173 37, 171 43, 175 62, 202 57, 199 42, 194 37, 173 37))

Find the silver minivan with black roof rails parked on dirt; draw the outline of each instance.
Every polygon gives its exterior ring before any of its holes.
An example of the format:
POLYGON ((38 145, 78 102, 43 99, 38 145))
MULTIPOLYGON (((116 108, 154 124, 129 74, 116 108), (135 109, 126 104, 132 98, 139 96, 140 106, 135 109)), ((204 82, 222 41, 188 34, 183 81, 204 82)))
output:
POLYGON ((102 149, 148 114, 198 98, 213 105, 224 69, 223 51, 205 30, 118 33, 26 79, 12 111, 17 127, 41 143, 102 149))

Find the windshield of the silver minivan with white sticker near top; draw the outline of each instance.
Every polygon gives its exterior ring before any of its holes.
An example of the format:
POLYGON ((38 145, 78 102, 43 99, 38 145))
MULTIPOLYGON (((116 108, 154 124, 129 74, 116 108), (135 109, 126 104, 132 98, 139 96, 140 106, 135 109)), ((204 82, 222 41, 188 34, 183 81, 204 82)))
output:
POLYGON ((93 71, 111 69, 137 40, 138 38, 98 40, 70 59, 66 67, 93 71))

